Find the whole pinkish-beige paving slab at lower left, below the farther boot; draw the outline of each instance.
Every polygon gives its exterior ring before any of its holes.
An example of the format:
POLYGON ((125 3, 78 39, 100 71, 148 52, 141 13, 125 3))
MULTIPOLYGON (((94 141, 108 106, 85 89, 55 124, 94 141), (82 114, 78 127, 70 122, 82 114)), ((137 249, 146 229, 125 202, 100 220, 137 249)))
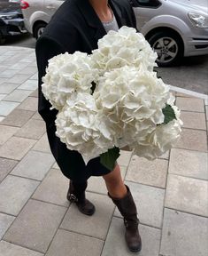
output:
POLYGON ((3 239, 37 252, 46 252, 66 208, 29 200, 3 239))

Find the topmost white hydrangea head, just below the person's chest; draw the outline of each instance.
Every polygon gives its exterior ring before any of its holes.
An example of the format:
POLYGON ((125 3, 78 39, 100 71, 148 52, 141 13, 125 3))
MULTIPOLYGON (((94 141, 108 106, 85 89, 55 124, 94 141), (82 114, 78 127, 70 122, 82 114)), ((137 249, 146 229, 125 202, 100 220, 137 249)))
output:
POLYGON ((103 73, 124 66, 144 67, 152 71, 157 66, 157 58, 157 53, 152 51, 143 34, 125 26, 118 32, 109 31, 98 41, 98 49, 92 54, 95 67, 103 73))

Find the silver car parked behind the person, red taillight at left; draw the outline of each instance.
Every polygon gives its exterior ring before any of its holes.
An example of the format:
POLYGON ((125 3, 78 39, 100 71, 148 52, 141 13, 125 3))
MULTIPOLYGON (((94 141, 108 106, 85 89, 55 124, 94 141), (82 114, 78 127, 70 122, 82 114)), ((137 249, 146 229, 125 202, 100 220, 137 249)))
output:
MULTIPOLYGON (((207 0, 129 0, 137 28, 158 53, 158 66, 208 54, 207 0)), ((36 38, 63 0, 21 0, 27 30, 36 38)))

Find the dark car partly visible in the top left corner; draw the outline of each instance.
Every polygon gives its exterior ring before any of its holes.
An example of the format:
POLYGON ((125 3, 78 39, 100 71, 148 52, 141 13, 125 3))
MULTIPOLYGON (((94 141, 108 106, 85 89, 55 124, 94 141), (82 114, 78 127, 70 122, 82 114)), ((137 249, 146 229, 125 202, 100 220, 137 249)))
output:
MULTIPOLYGON (((13 0, 14 1, 14 0, 13 0)), ((18 2, 1 0, 0 2, 0 44, 4 44, 8 36, 27 33, 23 15, 18 2)))

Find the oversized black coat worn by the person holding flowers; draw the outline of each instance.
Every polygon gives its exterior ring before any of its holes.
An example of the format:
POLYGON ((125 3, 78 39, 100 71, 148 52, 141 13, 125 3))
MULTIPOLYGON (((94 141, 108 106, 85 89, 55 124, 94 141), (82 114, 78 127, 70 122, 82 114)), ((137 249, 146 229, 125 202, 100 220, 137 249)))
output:
MULTIPOLYGON (((111 0, 119 28, 135 28, 135 14, 128 0, 111 0)), ((65 147, 55 135, 57 110, 50 110, 50 103, 42 95, 42 76, 48 60, 60 53, 75 51, 91 53, 97 48, 97 41, 106 34, 102 22, 88 0, 66 0, 50 20, 36 44, 36 59, 39 75, 38 111, 46 123, 50 149, 64 175, 76 182, 87 180, 90 176, 100 176, 110 172, 99 157, 89 161, 87 166, 81 155, 65 147)))

